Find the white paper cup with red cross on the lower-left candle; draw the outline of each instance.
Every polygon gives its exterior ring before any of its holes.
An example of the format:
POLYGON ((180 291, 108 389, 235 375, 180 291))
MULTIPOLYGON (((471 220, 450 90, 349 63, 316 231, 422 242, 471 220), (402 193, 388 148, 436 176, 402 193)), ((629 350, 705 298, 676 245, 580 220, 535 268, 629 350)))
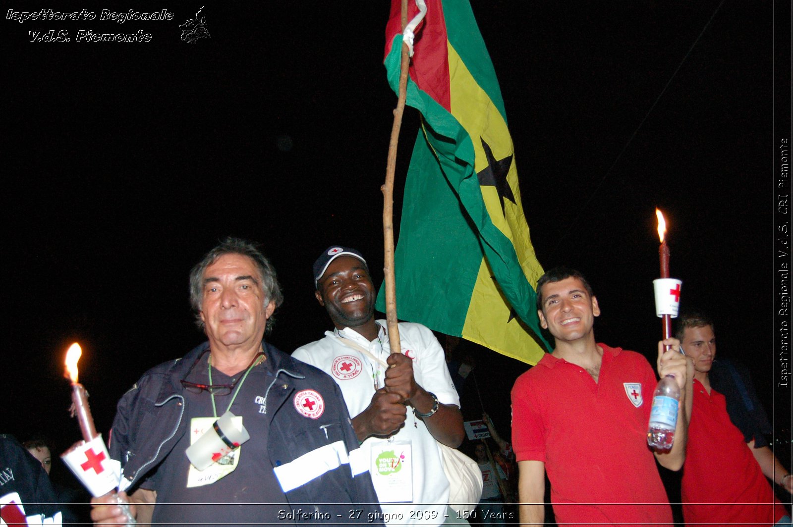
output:
POLYGON ((112 491, 121 478, 121 464, 110 459, 101 435, 87 443, 80 441, 60 457, 94 496, 112 491))

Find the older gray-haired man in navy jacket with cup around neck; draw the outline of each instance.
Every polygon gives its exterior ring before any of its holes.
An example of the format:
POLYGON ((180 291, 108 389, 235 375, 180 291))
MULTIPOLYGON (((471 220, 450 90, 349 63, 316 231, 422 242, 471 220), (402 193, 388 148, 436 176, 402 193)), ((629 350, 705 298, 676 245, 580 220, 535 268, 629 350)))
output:
MULTIPOLYGON (((270 262, 225 239, 190 273, 190 300, 208 342, 144 373, 110 435, 139 523, 371 523, 377 496, 339 388, 263 340, 283 300, 270 262), (227 437, 224 414, 250 439, 227 437), (231 452, 189 457, 204 434, 231 452)), ((126 521, 111 496, 92 517, 126 521)))

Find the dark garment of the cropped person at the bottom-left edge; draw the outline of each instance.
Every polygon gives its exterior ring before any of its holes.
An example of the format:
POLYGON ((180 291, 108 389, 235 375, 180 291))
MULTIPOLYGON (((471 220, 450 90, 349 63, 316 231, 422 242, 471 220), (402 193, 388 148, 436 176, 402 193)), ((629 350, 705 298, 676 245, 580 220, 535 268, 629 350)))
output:
POLYGON ((22 521, 20 505, 14 506, 10 497, 13 493, 19 495, 25 516, 44 514, 52 517, 57 514, 60 507, 57 504, 55 491, 52 490, 49 476, 41 466, 39 460, 30 453, 13 436, 0 434, 0 516, 6 524, 22 521))

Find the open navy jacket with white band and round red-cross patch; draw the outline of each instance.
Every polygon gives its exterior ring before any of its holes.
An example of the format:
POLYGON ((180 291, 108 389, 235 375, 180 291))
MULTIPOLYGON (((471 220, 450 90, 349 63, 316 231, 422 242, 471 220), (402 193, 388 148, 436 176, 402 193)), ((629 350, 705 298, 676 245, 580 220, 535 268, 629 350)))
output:
MULTIPOLYGON (((339 387, 319 369, 274 346, 263 342, 262 346, 267 362, 277 372, 265 392, 266 414, 270 416, 267 451, 290 506, 303 513, 328 513, 326 521, 331 523, 372 524, 371 518, 382 515, 369 460, 360 459, 358 437, 339 387), (325 409, 319 418, 305 417, 293 404, 294 394, 305 389, 324 398, 325 409)), ((123 468, 121 490, 134 490, 190 427, 179 381, 208 347, 205 342, 182 359, 155 366, 121 397, 109 441, 110 456, 120 460, 123 468)), ((293 519, 323 521, 316 514, 297 514, 293 519)), ((375 519, 374 525, 382 525, 382 521, 375 519)))

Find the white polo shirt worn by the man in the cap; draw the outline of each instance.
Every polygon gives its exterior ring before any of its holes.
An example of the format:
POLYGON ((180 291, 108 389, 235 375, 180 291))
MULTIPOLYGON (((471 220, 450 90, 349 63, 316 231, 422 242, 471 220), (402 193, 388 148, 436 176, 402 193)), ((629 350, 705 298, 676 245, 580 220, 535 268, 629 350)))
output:
MULTIPOLYGON (((294 358, 314 365, 333 377, 342 390, 351 417, 366 410, 376 389, 385 385, 385 368, 367 353, 347 346, 343 339, 352 341, 353 346, 368 349, 374 357, 385 362, 390 353, 385 320, 378 320, 377 324, 380 332, 372 342, 347 327, 343 330, 326 331, 321 340, 302 346, 292 353, 294 358)), ((421 324, 400 323, 399 334, 402 353, 413 361, 416 383, 434 393, 439 403, 459 407, 460 398, 446 367, 443 349, 431 330, 421 324)), ((370 460, 372 445, 403 440, 411 441, 412 446, 413 500, 412 503, 389 503, 389 496, 378 495, 384 519, 400 525, 441 525, 446 519, 449 482, 443 473, 438 441, 435 441, 423 421, 413 415, 412 408, 408 408, 404 426, 389 440, 368 437, 363 441, 362 455, 370 460)))

